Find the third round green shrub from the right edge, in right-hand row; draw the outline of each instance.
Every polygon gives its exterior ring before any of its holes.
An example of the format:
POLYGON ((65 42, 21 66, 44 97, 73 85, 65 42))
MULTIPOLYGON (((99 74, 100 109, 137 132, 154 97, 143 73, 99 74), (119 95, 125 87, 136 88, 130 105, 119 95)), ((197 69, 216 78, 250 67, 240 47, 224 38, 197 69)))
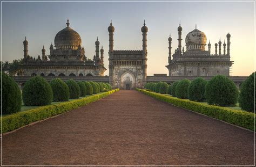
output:
POLYGON ((206 84, 207 81, 201 77, 194 79, 190 86, 188 86, 188 99, 193 101, 204 101, 206 84))

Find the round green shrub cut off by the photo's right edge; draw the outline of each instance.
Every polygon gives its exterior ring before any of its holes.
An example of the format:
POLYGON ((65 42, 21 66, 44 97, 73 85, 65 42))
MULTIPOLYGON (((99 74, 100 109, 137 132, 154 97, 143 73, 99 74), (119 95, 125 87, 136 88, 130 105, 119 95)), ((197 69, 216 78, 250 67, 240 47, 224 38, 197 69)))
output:
POLYGON ((242 110, 248 111, 248 112, 254 112, 254 106, 255 106, 255 72, 253 72, 244 83, 242 83, 240 96, 238 99, 239 106, 242 108, 242 110))

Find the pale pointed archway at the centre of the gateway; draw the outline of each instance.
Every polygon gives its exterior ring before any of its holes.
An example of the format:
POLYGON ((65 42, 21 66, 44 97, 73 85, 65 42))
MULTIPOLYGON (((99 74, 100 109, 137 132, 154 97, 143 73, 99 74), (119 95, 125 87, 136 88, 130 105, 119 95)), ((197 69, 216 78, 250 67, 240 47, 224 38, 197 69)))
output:
POLYGON ((120 88, 130 90, 136 86, 135 77, 131 72, 124 72, 121 76, 120 88))

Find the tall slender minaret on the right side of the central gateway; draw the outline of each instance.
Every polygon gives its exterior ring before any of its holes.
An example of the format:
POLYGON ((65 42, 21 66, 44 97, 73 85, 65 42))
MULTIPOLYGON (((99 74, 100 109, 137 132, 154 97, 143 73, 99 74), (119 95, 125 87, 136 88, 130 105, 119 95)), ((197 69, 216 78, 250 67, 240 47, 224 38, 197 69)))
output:
POLYGON ((141 28, 142 30, 142 50, 143 50, 143 62, 142 62, 142 86, 144 88, 144 85, 147 83, 147 31, 149 31, 149 28, 147 28, 144 20, 144 24, 141 28))

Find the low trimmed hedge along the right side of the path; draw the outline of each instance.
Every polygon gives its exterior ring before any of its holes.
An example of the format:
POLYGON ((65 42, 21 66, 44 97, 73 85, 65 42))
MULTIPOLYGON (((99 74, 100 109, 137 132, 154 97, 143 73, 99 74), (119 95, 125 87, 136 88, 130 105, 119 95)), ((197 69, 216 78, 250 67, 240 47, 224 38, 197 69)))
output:
POLYGON ((145 95, 149 95, 158 100, 171 103, 178 107, 183 107, 183 108, 186 108, 187 110, 192 110, 212 118, 223 120, 233 125, 244 127, 250 130, 255 130, 254 129, 254 117, 255 117, 254 113, 232 110, 226 107, 201 104, 196 101, 190 101, 188 99, 173 98, 170 96, 160 95, 159 93, 149 92, 142 89, 137 89, 137 90, 144 93, 145 95))

